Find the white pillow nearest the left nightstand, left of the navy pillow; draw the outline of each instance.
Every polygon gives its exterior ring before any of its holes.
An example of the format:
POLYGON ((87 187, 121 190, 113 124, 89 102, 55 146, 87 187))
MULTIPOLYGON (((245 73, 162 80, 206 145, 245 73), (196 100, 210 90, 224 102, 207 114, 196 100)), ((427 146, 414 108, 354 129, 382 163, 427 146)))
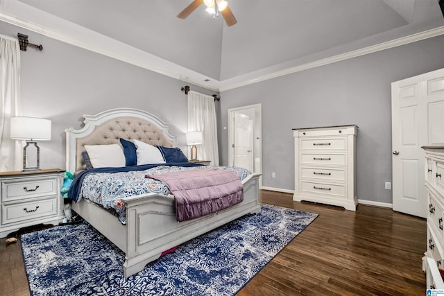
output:
POLYGON ((85 145, 91 164, 94 168, 125 166, 125 155, 119 144, 85 145))

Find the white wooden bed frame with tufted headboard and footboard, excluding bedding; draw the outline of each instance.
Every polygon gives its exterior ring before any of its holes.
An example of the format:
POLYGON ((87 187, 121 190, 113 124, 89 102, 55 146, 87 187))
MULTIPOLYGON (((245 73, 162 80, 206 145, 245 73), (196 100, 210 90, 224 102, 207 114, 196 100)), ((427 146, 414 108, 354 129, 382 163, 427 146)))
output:
MULTIPOLYGON (((83 128, 65 130, 67 171, 71 173, 86 169, 82 155, 85 145, 119 143, 119 139, 124 138, 137 139, 153 146, 176 146, 176 137, 169 133, 169 126, 142 110, 117 108, 95 115, 84 115, 83 123, 83 128)), ((231 220, 258 213, 259 176, 253 173, 241 181, 244 189, 242 202, 214 214, 183 222, 176 219, 175 198, 159 193, 122 198, 126 224, 121 223, 110 211, 85 198, 71 202, 71 209, 125 253, 123 275, 130 277, 143 270, 147 263, 158 259, 162 252, 231 220)))

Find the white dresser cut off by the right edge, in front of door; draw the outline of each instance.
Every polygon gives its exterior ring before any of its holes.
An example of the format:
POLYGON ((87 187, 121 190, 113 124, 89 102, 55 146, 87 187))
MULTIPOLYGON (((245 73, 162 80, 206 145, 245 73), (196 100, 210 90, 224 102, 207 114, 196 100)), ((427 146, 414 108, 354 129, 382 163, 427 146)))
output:
POLYGON ((425 186, 427 188, 427 251, 422 267, 427 289, 444 289, 439 270, 444 271, 444 146, 423 146, 425 150, 425 186))

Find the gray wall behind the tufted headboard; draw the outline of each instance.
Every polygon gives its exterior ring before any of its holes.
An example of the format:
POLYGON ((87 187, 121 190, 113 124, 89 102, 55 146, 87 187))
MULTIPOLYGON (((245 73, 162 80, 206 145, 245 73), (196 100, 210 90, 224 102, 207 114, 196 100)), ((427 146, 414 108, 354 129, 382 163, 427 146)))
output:
POLYGON ((80 128, 83 114, 116 107, 138 108, 158 116, 169 123, 178 146, 187 152, 187 96, 180 91, 185 82, 0 21, 0 34, 17 37, 18 32, 44 47, 43 51, 32 47, 20 51, 23 116, 52 121, 51 141, 38 143, 41 168, 65 168, 65 128, 80 128))

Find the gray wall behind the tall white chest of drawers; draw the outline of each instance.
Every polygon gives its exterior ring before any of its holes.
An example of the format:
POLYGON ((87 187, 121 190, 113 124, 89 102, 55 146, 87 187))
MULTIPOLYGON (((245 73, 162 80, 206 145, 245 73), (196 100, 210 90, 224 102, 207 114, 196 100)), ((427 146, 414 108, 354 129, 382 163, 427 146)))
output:
POLYGON ((221 164, 232 107, 262 103, 262 184, 278 189, 294 189, 292 128, 357 124, 358 198, 391 203, 391 82, 442 67, 439 36, 222 92, 221 164))

